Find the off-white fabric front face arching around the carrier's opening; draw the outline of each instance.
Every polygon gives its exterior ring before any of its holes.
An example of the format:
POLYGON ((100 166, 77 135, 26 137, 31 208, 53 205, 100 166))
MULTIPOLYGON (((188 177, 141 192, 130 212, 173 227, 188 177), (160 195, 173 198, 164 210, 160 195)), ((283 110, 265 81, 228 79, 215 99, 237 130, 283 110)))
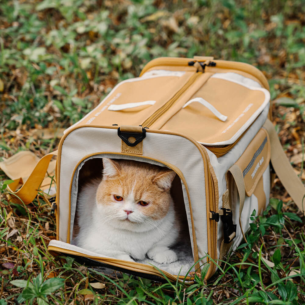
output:
MULTIPOLYGON (((74 168, 94 152, 121 152, 116 129, 81 127, 68 134, 63 142, 59 180, 59 239, 66 241, 69 221, 69 187, 74 168), (102 139, 96 141, 96 139, 102 139), (86 145, 80 145, 86 143, 86 145)), ((162 160, 178 167, 189 187, 199 257, 208 253, 204 165, 197 146, 186 138, 147 132, 143 156, 162 160), (183 148, 183 149, 181 149, 183 148), (189 170, 189 169, 192 170, 189 170), (201 187, 200 187, 201 186, 201 187)))

